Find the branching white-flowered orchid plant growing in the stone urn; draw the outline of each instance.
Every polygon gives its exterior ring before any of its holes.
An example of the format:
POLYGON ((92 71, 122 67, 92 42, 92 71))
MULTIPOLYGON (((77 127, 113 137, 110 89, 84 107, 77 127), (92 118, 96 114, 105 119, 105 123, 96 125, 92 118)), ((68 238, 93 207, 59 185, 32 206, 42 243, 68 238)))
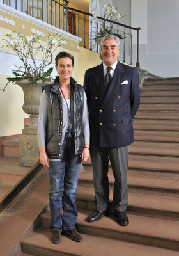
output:
MULTIPOLYGON (((66 40, 62 39, 58 33, 48 35, 47 46, 44 47, 40 42, 42 35, 26 36, 18 32, 4 35, 6 42, 3 47, 13 49, 23 63, 23 67, 17 67, 17 70, 12 70, 15 77, 8 77, 8 83, 29 79, 32 84, 40 79, 43 81, 51 81, 51 72, 53 68, 47 70, 47 66, 52 63, 52 54, 61 44, 66 44, 66 40), (41 61, 37 60, 40 59, 41 61), (45 71, 47 70, 47 71, 45 71)), ((8 85, 6 84, 6 86, 8 85)), ((3 89, 6 89, 6 86, 3 89)))

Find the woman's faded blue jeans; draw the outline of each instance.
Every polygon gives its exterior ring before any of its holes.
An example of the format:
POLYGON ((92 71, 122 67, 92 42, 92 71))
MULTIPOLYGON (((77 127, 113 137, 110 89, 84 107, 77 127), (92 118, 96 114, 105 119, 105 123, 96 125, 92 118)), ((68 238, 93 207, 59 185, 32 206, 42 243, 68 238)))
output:
POLYGON ((75 156, 74 137, 65 138, 61 147, 61 160, 50 161, 49 204, 51 231, 72 230, 77 221, 76 189, 81 165, 80 156, 75 156), (63 209, 63 217, 62 217, 63 209))

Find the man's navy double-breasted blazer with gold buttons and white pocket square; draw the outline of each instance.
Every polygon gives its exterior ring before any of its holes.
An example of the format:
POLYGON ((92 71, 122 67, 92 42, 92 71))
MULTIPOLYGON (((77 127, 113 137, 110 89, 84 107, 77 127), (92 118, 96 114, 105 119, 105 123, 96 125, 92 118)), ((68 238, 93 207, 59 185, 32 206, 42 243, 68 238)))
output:
POLYGON ((86 70, 90 145, 125 147, 134 141, 132 119, 140 104, 137 70, 118 61, 107 90, 103 64, 86 70))

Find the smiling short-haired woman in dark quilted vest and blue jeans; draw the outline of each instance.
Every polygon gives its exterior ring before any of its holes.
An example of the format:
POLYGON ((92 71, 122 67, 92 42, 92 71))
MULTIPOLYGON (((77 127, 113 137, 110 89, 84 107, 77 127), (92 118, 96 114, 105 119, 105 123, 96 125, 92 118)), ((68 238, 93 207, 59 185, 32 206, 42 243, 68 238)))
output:
POLYGON ((55 60, 59 76, 53 84, 44 86, 40 99, 40 163, 49 169, 52 242, 60 242, 62 231, 80 242, 82 238, 75 228, 75 200, 79 168, 89 157, 86 94, 71 77, 74 57, 59 52, 55 60))

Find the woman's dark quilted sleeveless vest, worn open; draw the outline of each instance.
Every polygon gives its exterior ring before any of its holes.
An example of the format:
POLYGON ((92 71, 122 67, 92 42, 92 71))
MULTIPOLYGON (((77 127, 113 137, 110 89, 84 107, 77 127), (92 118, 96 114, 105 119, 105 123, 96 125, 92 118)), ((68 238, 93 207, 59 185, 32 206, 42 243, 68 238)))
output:
MULTIPOLYGON (((53 84, 45 85, 44 90, 48 99, 46 125, 46 152, 51 159, 61 158, 61 135, 63 129, 63 102, 58 88, 59 76, 53 84)), ((84 148, 82 113, 84 105, 84 89, 70 77, 71 95, 70 110, 75 142, 75 156, 81 155, 84 148)))

